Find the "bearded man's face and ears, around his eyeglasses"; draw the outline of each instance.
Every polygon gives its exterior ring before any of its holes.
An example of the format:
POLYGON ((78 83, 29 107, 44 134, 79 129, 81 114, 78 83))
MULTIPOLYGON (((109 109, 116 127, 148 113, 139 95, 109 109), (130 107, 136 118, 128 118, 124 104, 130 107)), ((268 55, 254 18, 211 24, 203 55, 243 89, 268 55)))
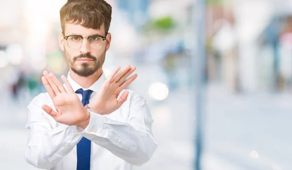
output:
MULTIPOLYGON (((65 36, 78 35, 82 37, 88 37, 92 35, 105 35, 104 24, 100 29, 85 28, 78 24, 67 23, 64 31, 65 36)), ((78 76, 91 76, 97 70, 102 68, 105 61, 106 51, 110 47, 111 35, 109 33, 108 38, 102 42, 102 47, 99 49, 91 48, 88 44, 87 38, 84 38, 80 48, 70 48, 67 40, 63 38, 62 33, 59 35, 60 48, 65 52, 66 61, 70 69, 78 76)))

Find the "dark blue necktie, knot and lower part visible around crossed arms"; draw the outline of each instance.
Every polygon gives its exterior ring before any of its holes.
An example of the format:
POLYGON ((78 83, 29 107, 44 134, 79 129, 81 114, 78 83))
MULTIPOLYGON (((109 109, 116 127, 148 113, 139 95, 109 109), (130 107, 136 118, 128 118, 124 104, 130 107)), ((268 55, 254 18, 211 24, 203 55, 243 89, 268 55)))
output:
MULTIPOLYGON (((83 91, 83 89, 78 89, 75 93, 82 94, 81 102, 85 106, 89 103, 92 92, 92 90, 83 91)), ((82 137, 77 143, 77 170, 90 170, 90 149, 91 141, 82 137)))

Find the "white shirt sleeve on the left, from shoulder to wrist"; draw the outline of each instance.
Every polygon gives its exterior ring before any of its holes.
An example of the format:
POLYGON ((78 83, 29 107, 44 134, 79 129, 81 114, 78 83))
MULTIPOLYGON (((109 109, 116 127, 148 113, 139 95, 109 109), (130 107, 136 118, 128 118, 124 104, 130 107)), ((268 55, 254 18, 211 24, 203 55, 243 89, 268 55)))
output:
POLYGON ((51 169, 72 151, 82 136, 74 126, 56 126, 55 120, 41 109, 43 102, 37 96, 27 106, 29 137, 25 160, 37 168, 51 169))

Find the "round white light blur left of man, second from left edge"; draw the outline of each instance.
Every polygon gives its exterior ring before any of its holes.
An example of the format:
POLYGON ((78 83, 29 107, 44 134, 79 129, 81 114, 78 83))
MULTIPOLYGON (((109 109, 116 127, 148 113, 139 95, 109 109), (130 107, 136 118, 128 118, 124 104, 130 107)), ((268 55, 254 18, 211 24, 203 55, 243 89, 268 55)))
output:
POLYGON ((11 64, 19 65, 23 59, 23 50, 20 45, 9 45, 6 48, 7 58, 11 64))

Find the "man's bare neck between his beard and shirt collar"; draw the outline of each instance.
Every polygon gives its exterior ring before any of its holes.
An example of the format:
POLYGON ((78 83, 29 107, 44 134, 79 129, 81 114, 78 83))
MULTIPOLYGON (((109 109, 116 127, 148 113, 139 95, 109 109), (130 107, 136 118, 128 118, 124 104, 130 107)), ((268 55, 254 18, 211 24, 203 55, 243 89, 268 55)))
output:
POLYGON ((88 89, 93 83, 95 83, 101 75, 102 75, 102 68, 100 68, 97 72, 95 72, 93 75, 88 76, 88 77, 78 76, 76 73, 74 73, 70 69, 71 78, 80 86, 86 89, 88 89))

